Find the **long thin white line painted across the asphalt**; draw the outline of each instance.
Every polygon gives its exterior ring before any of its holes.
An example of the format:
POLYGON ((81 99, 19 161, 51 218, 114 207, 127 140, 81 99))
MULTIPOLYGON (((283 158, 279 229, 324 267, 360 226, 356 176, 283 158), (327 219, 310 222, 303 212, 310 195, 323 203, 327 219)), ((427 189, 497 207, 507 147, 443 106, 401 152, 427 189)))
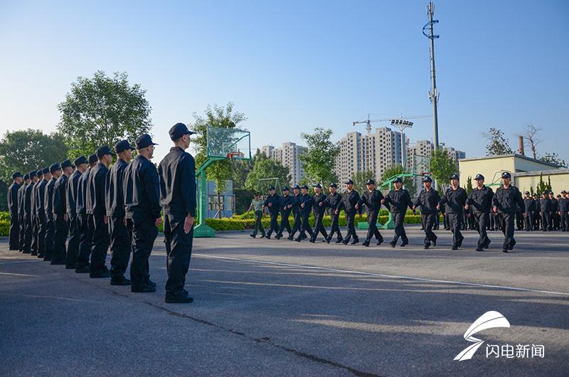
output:
POLYGON ((546 294, 559 294, 561 296, 569 296, 568 292, 555 292, 555 291, 546 291, 546 290, 533 290, 531 288, 521 288, 521 287, 508 287, 507 285, 488 285, 488 284, 480 284, 474 282, 455 282, 453 280, 438 280, 438 279, 429 279, 427 277, 413 277, 413 276, 403 276, 403 275, 386 275, 386 274, 378 274, 375 272, 361 272, 361 271, 351 271, 351 270, 340 270, 338 268, 331 268, 331 267, 318 267, 318 266, 309 266, 309 265, 295 265, 292 263, 282 263, 282 262, 268 262, 265 260, 252 260, 252 259, 242 259, 242 258, 235 258, 235 257, 221 257, 219 255, 206 255, 206 254, 193 254, 200 257, 209 257, 213 259, 225 259, 225 260, 237 260, 240 262, 252 262, 252 263, 260 263, 264 265, 277 265, 277 266, 284 266, 284 267, 297 267, 297 268, 306 268, 307 270, 323 270, 323 271, 332 271, 332 272, 342 272, 346 274, 355 274, 355 275, 365 275, 365 276, 375 276, 375 277, 387 277, 389 279, 405 279, 405 280, 415 280, 419 282, 437 282, 442 284, 454 284, 454 285, 469 285, 472 287, 484 287, 484 288, 494 288, 498 290, 512 290, 512 291, 521 291, 521 292, 533 292, 533 293, 546 293, 546 294))

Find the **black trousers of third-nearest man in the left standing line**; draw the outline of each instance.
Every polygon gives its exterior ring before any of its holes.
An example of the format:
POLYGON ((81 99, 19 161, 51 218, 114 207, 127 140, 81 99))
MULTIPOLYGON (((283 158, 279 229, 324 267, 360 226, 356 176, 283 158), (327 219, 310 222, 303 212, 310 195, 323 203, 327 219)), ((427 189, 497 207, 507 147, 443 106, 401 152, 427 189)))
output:
POLYGON ((130 239, 124 217, 111 216, 109 218, 111 238, 111 278, 124 276, 132 254, 132 240, 130 239))

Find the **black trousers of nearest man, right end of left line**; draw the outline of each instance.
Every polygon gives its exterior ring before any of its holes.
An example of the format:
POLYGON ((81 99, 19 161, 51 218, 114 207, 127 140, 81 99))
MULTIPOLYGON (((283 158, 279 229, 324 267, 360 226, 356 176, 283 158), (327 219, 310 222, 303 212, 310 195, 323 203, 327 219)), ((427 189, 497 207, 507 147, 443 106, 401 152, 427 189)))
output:
POLYGON ((164 243, 166 244, 166 296, 181 293, 186 285, 193 245, 193 227, 184 232, 186 216, 164 215, 164 243))

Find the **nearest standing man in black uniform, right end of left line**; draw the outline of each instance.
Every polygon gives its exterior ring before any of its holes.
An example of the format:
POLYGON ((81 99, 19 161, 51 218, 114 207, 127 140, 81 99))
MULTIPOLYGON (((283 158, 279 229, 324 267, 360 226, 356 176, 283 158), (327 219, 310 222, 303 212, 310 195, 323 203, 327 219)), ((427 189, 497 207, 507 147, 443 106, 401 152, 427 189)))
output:
POLYGON ((196 217, 196 162, 185 152, 190 135, 184 123, 170 129, 174 147, 159 166, 160 203, 164 208, 164 242, 166 243, 166 303, 193 302, 184 289, 193 246, 193 221, 196 217))

